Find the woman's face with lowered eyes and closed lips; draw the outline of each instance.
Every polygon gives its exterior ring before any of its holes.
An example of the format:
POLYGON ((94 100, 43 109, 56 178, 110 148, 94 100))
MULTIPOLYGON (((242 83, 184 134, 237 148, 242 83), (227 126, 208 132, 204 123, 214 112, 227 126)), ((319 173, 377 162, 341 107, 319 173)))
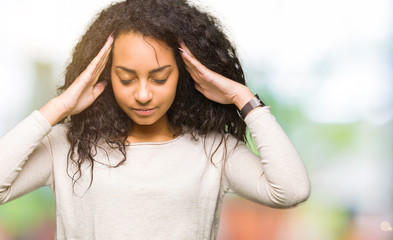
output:
POLYGON ((120 108, 136 125, 168 124, 179 71, 164 42, 138 33, 122 34, 113 48, 111 81, 120 108))

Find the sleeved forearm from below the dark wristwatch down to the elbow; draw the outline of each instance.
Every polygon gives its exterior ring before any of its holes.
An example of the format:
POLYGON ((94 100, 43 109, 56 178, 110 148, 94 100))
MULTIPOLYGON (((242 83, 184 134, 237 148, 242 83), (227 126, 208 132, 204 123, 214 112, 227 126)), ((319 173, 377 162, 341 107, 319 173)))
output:
POLYGON ((282 207, 305 201, 310 194, 306 168, 292 141, 270 113, 270 107, 250 114, 245 121, 260 153, 266 180, 259 186, 260 194, 282 207))

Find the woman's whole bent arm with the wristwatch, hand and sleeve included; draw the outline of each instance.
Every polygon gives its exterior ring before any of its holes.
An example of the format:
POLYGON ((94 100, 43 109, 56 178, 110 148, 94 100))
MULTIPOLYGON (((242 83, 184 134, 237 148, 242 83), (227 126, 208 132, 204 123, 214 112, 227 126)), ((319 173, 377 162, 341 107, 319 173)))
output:
MULTIPOLYGON (((242 109, 254 95, 248 87, 202 65, 184 43, 182 58, 195 81, 195 88, 208 99, 235 104, 242 109)), ((228 158, 224 181, 240 195, 273 207, 291 207, 310 194, 304 164, 288 136, 270 113, 257 107, 245 117, 255 139, 260 158, 243 144, 228 158)))

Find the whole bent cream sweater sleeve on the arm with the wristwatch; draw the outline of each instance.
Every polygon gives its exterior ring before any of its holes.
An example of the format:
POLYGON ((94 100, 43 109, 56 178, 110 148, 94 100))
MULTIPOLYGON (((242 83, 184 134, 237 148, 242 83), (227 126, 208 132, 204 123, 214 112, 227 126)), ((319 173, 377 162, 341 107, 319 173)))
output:
POLYGON ((306 168, 270 107, 251 112, 245 122, 260 156, 244 143, 233 150, 224 171, 227 190, 275 208, 305 201, 311 189, 306 168))

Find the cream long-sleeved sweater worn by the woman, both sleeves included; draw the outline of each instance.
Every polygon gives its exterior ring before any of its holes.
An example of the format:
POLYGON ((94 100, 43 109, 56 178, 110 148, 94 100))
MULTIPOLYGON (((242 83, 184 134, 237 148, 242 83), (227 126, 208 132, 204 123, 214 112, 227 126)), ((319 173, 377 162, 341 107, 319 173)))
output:
MULTIPOLYGON (((51 128, 34 111, 0 138, 0 203, 41 186, 56 201, 56 238, 61 239, 215 239, 224 194, 234 192, 278 208, 307 199, 310 182, 293 144, 270 113, 260 108, 246 119, 260 157, 241 143, 229 152, 225 169, 221 150, 211 164, 202 138, 184 134, 171 141, 135 143, 121 155, 98 149, 91 188, 90 168, 75 185, 66 173, 66 125, 51 128)), ((218 144, 210 135, 207 152, 218 144)), ((228 138, 228 149, 235 140, 228 138)), ((105 148, 105 146, 103 146, 105 148)), ((75 170, 70 166, 71 172, 75 170)))

